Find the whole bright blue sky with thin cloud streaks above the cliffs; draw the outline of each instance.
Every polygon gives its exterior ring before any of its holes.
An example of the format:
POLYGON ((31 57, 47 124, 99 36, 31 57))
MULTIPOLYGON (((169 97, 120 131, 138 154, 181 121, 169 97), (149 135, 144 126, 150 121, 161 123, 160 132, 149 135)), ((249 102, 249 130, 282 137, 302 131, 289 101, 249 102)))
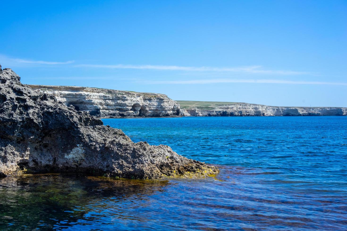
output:
POLYGON ((6 1, 23 83, 347 107, 347 1, 6 1))

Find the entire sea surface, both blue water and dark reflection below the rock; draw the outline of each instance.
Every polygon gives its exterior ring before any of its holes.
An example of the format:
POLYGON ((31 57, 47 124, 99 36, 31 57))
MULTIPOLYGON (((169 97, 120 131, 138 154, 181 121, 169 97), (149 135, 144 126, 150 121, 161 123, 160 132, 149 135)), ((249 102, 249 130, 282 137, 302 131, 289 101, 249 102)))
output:
POLYGON ((0 230, 346 230, 347 117, 103 119, 217 179, 0 180, 0 230))

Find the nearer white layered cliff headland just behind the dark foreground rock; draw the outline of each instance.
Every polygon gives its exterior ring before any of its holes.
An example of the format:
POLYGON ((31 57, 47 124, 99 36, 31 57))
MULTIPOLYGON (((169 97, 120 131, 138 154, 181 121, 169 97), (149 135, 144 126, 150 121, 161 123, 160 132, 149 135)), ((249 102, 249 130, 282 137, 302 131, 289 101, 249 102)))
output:
POLYGON ((28 85, 65 105, 96 117, 181 116, 179 104, 163 94, 73 86, 28 85))

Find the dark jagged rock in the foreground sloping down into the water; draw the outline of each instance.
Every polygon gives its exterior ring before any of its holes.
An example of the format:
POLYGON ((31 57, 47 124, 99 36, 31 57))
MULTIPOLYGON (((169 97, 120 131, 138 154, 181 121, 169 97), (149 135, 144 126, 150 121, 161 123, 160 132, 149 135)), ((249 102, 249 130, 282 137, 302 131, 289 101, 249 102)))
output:
POLYGON ((121 130, 23 85, 14 71, 0 68, 0 175, 20 171, 153 179, 187 172, 205 176, 218 169, 166 145, 133 143, 121 130))

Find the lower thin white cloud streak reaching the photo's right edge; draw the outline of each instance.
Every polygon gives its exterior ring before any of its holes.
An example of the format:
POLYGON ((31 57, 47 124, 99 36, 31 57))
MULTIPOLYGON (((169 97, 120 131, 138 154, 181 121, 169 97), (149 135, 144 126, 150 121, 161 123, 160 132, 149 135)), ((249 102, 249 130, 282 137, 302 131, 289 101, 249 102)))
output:
MULTIPOLYGON (((141 82, 141 81, 138 81, 141 82)), ((200 80, 174 80, 174 81, 142 81, 145 84, 210 84, 210 83, 277 83, 299 85, 342 85, 347 83, 319 82, 319 81, 292 81, 276 79, 200 79, 200 80)))

